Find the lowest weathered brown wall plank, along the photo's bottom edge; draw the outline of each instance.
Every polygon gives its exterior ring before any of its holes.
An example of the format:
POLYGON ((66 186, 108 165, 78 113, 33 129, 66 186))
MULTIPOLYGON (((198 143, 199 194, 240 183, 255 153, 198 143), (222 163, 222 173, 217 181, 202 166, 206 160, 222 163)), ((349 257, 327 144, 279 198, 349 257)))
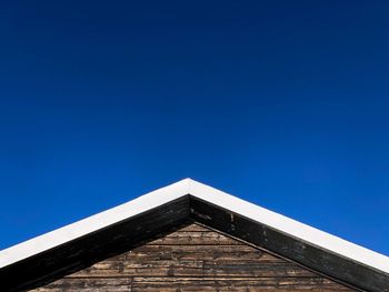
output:
POLYGON ((180 279, 180 278, 106 278, 57 281, 37 291, 350 291, 323 279, 180 279), (312 288, 313 286, 313 288, 312 288), (94 289, 94 290, 93 290, 94 289))

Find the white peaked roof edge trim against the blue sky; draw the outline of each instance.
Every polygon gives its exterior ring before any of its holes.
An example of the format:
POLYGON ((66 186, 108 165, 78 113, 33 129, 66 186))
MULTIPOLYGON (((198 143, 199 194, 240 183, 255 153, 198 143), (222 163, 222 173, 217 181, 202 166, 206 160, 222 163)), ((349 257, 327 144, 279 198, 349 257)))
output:
POLYGON ((338 253, 341 256, 360 262, 363 265, 389 273, 389 258, 383 254, 311 228, 191 179, 181 180, 116 208, 4 249, 0 251, 0 268, 10 265, 124 219, 129 219, 187 194, 191 194, 286 234, 338 253))

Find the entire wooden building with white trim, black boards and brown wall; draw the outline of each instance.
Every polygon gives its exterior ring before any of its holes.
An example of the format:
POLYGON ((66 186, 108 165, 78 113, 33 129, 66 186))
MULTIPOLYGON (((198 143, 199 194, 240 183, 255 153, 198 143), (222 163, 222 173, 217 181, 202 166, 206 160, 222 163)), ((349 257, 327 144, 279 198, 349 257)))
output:
POLYGON ((0 251, 0 291, 389 291, 389 258, 190 179, 0 251))

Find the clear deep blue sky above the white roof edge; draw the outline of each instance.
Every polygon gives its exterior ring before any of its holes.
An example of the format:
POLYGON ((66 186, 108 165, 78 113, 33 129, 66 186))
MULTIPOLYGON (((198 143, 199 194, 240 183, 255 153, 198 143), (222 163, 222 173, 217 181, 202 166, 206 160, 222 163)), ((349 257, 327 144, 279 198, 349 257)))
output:
POLYGON ((387 1, 1 1, 0 249, 190 177, 389 254, 387 1))

